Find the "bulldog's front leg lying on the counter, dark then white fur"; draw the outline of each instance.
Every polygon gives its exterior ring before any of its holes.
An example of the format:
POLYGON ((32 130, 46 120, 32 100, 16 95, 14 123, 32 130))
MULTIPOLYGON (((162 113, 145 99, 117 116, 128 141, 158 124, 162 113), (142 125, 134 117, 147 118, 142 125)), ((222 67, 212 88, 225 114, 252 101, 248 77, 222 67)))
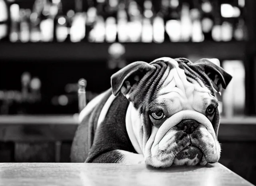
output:
POLYGON ((142 154, 135 154, 125 150, 111 150, 94 159, 87 158, 85 163, 140 164, 144 163, 144 156, 142 154))

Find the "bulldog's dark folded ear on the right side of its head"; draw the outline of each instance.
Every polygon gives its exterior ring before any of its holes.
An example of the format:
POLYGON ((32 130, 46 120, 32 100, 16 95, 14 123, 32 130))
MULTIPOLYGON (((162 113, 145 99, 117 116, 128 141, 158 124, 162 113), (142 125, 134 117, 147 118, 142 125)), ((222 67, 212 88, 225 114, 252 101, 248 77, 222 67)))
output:
POLYGON ((226 89, 232 79, 232 76, 221 68, 220 61, 216 58, 203 58, 194 62, 194 64, 204 68, 204 71, 210 78, 213 89, 215 89, 216 92, 220 92, 222 88, 226 89))

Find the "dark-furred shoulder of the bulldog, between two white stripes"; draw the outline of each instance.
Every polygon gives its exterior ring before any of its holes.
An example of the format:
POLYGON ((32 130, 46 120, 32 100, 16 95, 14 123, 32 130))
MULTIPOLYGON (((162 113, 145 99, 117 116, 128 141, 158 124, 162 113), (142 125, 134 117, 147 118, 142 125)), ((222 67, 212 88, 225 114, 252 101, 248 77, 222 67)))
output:
MULTIPOLYGON (((111 99, 111 97, 109 97, 109 99, 111 99)), ((125 125, 128 105, 129 101, 123 94, 118 94, 111 100, 111 104, 104 118, 100 118, 101 116, 99 116, 99 120, 102 121, 98 121, 93 144, 86 162, 92 162, 93 159, 106 151, 126 150, 136 152, 129 140, 125 125)), ((104 106, 101 111, 103 110, 104 106)))

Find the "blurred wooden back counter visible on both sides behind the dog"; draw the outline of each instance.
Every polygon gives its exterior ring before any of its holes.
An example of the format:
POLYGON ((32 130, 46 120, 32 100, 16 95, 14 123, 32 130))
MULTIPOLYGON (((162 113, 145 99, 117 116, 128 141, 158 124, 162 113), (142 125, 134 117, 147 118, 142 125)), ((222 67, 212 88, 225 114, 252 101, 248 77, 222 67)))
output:
MULTIPOLYGON (((73 140, 78 115, 0 116, 0 141, 73 140)), ((256 117, 221 118, 220 141, 256 141, 256 117)))

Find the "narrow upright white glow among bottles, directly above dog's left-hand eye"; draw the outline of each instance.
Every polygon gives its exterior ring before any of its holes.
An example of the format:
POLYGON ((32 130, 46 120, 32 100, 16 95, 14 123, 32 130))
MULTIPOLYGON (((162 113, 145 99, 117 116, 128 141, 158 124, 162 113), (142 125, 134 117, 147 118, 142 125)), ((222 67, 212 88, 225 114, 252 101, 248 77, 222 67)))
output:
POLYGON ((157 16, 153 21, 153 41, 155 43, 164 42, 164 20, 157 16))

